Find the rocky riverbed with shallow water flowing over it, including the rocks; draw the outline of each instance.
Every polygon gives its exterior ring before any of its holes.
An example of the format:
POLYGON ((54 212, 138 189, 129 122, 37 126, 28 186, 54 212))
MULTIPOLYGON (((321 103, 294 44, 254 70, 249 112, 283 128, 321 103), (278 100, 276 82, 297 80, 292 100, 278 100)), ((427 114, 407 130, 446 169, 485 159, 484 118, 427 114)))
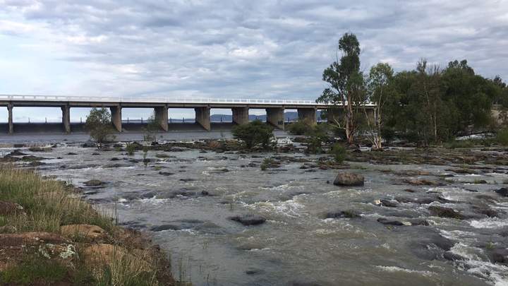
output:
POLYGON ((231 144, 1 152, 151 232, 193 285, 508 285, 507 150, 359 148, 337 165, 231 144), (344 172, 363 185, 334 185, 344 172))

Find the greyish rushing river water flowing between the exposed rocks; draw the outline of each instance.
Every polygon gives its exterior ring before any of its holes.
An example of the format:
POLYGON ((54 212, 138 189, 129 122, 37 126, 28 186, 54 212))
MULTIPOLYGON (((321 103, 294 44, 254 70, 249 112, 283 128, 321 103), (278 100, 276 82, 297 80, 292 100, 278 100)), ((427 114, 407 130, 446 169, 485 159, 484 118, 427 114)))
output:
MULTIPOLYGON (((454 202, 431 205, 467 212, 466 202, 485 193, 497 200, 490 208, 507 211, 508 199, 492 192, 507 174, 456 174, 446 186, 411 187, 399 183, 400 175, 380 169, 425 170, 433 175, 419 177, 437 180, 449 174, 449 167, 351 163, 353 172, 365 177, 365 186, 345 188, 327 183, 337 170, 309 171, 300 168, 301 162, 260 170, 262 157, 273 154, 150 151, 154 162, 144 167, 140 151, 134 156, 95 152, 69 144, 34 155, 51 158, 39 167, 42 174, 76 186, 89 179, 107 182, 102 188, 83 186, 85 197, 109 206, 116 202, 125 225, 164 229, 152 232, 154 241, 171 255, 174 276, 193 285, 508 285, 508 268, 489 262, 481 246, 507 246, 507 237, 499 235, 508 226, 506 216, 455 220, 430 217, 424 204, 373 204, 380 198, 423 198, 438 192, 454 202), (251 162, 254 167, 248 167, 251 162), (474 179, 489 184, 467 183, 474 179), (404 191, 409 187, 416 192, 404 191), (325 218, 337 210, 356 210, 362 216, 325 218), (241 214, 262 215, 267 222, 243 226, 229 220, 241 214), (387 227, 377 222, 381 217, 424 218, 430 225, 387 227), (415 245, 435 237, 450 239, 451 252, 466 260, 428 259, 418 253, 415 245)), ((419 251, 433 251, 429 247, 419 251)))

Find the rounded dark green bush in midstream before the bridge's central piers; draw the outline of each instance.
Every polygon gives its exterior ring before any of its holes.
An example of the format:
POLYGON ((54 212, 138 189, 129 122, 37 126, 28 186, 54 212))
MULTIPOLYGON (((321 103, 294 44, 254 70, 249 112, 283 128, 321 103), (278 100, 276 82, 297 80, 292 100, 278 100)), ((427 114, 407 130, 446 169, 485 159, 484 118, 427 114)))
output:
POLYGON ((236 125, 233 127, 233 136, 245 143, 246 148, 252 149, 256 145, 268 148, 272 140, 274 128, 262 121, 255 120, 248 124, 236 125))

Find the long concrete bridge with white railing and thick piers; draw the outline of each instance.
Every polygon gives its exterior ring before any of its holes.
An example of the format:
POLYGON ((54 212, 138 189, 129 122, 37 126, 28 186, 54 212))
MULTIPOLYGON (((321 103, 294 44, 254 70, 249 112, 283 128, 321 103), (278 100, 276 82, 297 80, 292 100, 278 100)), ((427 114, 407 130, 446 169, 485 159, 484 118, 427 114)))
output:
MULTIPOLYGON (((346 103, 347 105, 347 103, 346 103)), ((374 103, 365 106, 372 110, 374 103)), ((175 97, 77 97, 61 95, 0 95, 0 107, 8 109, 8 133, 14 132, 13 109, 15 107, 61 107, 63 130, 71 132, 72 107, 106 107, 111 110, 111 121, 115 129, 122 131, 122 108, 153 108, 161 129, 168 131, 168 110, 171 108, 193 108, 195 121, 210 131, 210 109, 231 109, 234 124, 249 121, 249 109, 265 109, 267 123, 284 129, 284 110, 296 109, 298 118, 315 124, 317 110, 328 110, 329 117, 337 116, 337 105, 319 104, 312 100, 259 100, 259 99, 212 99, 175 97)), ((340 109, 340 107, 339 107, 340 109)), ((330 119, 330 118, 329 118, 330 119)))

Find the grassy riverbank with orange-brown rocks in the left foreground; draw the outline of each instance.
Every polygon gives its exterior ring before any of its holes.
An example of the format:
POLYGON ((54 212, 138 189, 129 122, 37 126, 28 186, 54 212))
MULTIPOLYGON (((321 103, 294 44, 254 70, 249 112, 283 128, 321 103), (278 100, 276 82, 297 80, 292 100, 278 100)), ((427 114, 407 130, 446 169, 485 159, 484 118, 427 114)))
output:
POLYGON ((73 186, 0 167, 0 285, 175 285, 159 246, 73 186))

